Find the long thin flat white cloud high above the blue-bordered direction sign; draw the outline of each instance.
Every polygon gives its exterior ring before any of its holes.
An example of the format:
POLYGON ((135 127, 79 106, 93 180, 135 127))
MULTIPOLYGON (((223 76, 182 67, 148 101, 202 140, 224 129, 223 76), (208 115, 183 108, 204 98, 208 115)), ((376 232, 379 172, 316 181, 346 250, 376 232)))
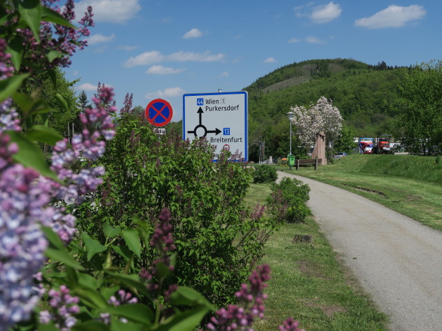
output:
POLYGON ((185 61, 198 61, 198 62, 219 62, 224 61, 225 54, 211 54, 208 50, 204 53, 195 53, 195 52, 175 52, 169 55, 163 55, 161 52, 157 50, 153 50, 151 52, 144 52, 142 54, 137 55, 136 57, 131 57, 126 62, 124 62, 124 66, 127 68, 135 67, 135 66, 146 66, 152 63, 158 63, 162 61, 177 61, 177 62, 185 62, 185 61))

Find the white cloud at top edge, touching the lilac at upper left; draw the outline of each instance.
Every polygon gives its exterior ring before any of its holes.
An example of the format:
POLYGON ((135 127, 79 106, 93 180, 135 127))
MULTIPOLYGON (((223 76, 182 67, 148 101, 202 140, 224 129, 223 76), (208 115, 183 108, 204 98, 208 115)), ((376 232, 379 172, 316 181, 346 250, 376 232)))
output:
POLYGON ((77 17, 83 17, 88 6, 93 8, 95 22, 126 23, 141 10, 139 0, 81 0, 75 4, 77 17))

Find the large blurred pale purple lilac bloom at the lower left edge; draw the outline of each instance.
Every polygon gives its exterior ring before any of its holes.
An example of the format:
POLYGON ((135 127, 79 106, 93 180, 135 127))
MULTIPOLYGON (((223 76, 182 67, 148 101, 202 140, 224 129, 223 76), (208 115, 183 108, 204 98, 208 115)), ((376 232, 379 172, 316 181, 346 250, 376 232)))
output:
MULTIPOLYGON (((1 137, 0 141, 5 141, 1 137)), ((1 153, 0 153, 1 154, 1 153)), ((0 155, 0 163, 10 164, 0 155)), ((1 167, 0 172, 0 330, 7 330, 19 321, 29 319, 39 300, 33 275, 46 258, 48 245, 39 221, 48 194, 40 194, 35 181, 39 174, 23 165, 1 167)))

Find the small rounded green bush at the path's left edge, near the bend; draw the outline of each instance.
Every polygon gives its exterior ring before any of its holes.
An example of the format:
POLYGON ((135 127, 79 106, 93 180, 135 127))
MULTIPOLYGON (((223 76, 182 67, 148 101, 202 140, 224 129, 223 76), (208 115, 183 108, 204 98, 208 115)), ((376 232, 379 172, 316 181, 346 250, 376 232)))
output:
POLYGON ((311 214, 309 192, 309 185, 284 177, 279 184, 273 183, 267 205, 277 221, 300 223, 311 214))

